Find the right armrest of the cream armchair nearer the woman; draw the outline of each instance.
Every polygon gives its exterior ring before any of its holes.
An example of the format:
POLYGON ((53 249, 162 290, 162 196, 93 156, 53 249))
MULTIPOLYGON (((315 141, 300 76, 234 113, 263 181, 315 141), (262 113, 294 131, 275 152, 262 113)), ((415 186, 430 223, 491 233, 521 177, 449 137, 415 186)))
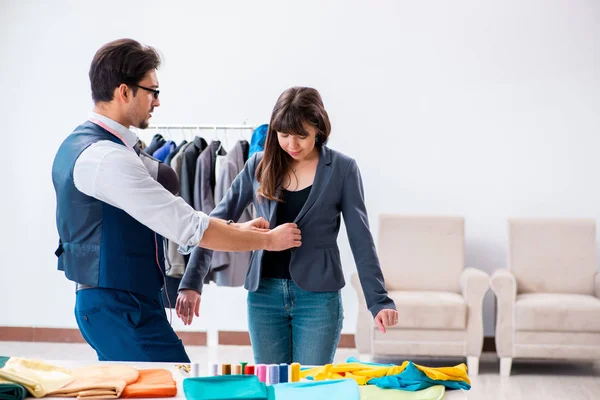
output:
POLYGON ((467 303, 467 357, 479 357, 483 350, 483 298, 490 288, 490 276, 476 268, 465 268, 460 290, 467 303))

